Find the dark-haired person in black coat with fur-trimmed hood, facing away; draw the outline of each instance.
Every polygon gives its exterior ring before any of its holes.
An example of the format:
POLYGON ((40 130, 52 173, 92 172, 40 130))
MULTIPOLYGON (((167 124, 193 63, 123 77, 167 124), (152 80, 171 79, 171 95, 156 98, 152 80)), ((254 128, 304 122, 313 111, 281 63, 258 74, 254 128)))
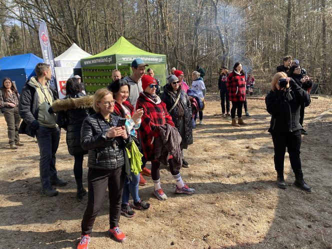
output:
POLYGON ((94 113, 92 98, 81 91, 76 77, 65 83, 66 96, 54 101, 52 108, 56 112, 56 123, 66 130, 66 143, 69 154, 74 156, 74 177, 76 181, 76 197, 83 199, 86 190, 83 187, 83 158, 87 154, 80 146, 80 128, 85 117, 94 113))

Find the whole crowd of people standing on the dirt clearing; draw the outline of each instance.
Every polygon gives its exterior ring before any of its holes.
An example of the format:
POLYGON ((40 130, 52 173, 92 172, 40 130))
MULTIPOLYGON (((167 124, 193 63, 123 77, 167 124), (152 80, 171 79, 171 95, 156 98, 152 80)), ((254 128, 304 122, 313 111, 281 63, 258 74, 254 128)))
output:
MULTIPOLYGON (((285 56, 284 64, 277 67, 271 81, 271 90, 265 103, 271 122, 268 131, 274 145, 274 166, 277 186, 286 188, 283 177, 284 154, 287 148, 295 174, 294 185, 305 191, 311 187, 303 180, 300 161, 301 133, 304 107, 310 103, 307 90, 311 80, 298 60, 285 56), (290 58, 290 60, 289 60, 290 58)), ((31 77, 19 94, 10 78, 4 78, 0 91, 0 107, 8 127, 11 149, 23 145, 18 133, 36 137, 39 147, 41 191, 54 196, 53 185, 64 186, 55 167, 55 154, 60 140, 60 128, 66 130, 68 152, 74 157, 73 172, 76 197, 87 193, 87 205, 81 221, 78 249, 87 248, 94 220, 101 208, 108 187, 109 230, 116 241, 126 239, 118 222, 120 215, 134 216, 136 210, 148 210, 150 203, 139 196, 139 185, 146 184, 144 176, 153 182, 152 194, 160 201, 167 195, 160 184, 160 165, 169 165, 175 182, 175 193, 193 194, 182 179, 180 170, 189 167, 184 149, 193 143, 192 129, 196 118, 203 125, 206 87, 205 71, 200 66, 191 73, 191 87, 184 73, 171 68, 167 83, 154 78, 154 71, 142 59, 131 62, 132 74, 122 77, 112 71, 112 82, 98 89, 92 96, 85 95, 80 77, 66 82, 66 96, 56 99, 49 85, 50 66, 38 63, 36 76, 31 77), (22 121, 21 121, 22 119, 22 121), (83 187, 83 158, 87 154, 87 190, 83 187), (146 167, 150 161, 151 169, 146 167), (131 195, 133 202, 129 202, 131 195)), ((236 62, 229 73, 227 66, 220 68, 218 88, 221 114, 231 117, 231 125, 245 124, 242 107, 246 105, 246 92, 252 94, 254 78, 236 62), (231 108, 230 108, 231 101, 231 108), (237 115, 237 121, 235 118, 237 115)), ((247 109, 245 109, 247 114, 247 109)), ((306 132, 305 132, 306 133, 306 132)))

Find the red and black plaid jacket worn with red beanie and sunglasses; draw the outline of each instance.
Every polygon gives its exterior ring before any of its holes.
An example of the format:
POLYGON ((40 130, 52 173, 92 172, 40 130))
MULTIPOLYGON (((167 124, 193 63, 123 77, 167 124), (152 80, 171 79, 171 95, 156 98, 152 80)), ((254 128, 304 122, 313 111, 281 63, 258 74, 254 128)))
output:
POLYGON ((136 109, 139 108, 143 108, 142 121, 139 126, 141 145, 146 160, 150 161, 154 159, 154 139, 159 136, 157 126, 165 123, 174 126, 174 123, 166 109, 166 104, 159 97, 157 103, 155 103, 143 92, 140 92, 136 102, 136 109))

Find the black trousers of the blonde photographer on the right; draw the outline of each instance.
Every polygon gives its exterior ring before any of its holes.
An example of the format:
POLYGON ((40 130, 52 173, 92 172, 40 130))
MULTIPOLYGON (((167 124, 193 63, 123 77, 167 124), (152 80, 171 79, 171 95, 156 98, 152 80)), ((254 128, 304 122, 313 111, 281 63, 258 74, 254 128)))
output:
POLYGON ((293 172, 295 175, 302 173, 300 157, 301 139, 301 130, 272 134, 274 145, 274 168, 276 171, 283 171, 284 154, 287 148, 290 166, 293 172))

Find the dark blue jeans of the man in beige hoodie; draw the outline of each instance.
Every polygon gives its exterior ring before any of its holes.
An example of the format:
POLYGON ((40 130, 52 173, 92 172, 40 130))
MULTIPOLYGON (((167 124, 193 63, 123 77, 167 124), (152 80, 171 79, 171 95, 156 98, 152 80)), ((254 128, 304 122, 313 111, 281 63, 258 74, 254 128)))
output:
POLYGON ((49 179, 56 179, 55 153, 60 141, 59 127, 47 128, 39 126, 35 131, 39 147, 39 174, 41 186, 51 186, 49 179))

